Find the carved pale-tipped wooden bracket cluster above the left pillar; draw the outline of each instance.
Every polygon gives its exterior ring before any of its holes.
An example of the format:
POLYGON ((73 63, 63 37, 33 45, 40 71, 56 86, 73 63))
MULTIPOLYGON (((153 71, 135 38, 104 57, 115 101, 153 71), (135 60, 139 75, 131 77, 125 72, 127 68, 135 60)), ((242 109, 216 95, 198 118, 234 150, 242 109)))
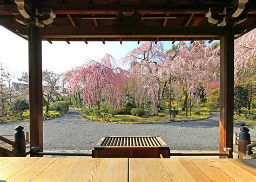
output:
POLYGON ((35 24, 38 27, 53 23, 56 14, 52 9, 42 9, 38 11, 29 0, 15 0, 19 13, 15 13, 15 19, 23 25, 35 24))

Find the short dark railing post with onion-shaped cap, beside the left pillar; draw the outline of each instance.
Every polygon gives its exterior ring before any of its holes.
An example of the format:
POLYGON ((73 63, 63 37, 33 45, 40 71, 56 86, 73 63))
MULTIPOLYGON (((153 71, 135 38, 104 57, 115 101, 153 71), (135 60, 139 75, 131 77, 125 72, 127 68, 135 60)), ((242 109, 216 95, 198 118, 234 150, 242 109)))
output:
POLYGON ((26 141, 25 141, 25 132, 23 131, 24 127, 18 126, 15 128, 16 132, 14 134, 14 142, 17 144, 17 154, 16 157, 25 157, 26 156, 26 141))

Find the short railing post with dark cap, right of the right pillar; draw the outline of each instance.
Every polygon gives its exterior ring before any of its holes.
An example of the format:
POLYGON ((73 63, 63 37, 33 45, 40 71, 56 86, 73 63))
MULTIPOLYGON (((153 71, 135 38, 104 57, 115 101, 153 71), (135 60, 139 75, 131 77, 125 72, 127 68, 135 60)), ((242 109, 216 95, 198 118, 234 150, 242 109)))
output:
MULTIPOLYGON (((239 139, 238 139, 238 156, 239 159, 242 159, 246 155, 247 145, 251 144, 251 136, 249 133, 249 129, 246 127, 240 128, 239 139)), ((252 153, 248 153, 251 155, 252 153)))

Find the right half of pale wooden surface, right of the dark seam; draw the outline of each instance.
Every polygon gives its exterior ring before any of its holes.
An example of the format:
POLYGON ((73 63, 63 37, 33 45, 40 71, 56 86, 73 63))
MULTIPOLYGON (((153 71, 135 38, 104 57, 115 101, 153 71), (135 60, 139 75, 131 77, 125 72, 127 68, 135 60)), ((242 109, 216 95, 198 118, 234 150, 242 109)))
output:
POLYGON ((129 181, 256 181, 256 160, 130 158, 129 181))

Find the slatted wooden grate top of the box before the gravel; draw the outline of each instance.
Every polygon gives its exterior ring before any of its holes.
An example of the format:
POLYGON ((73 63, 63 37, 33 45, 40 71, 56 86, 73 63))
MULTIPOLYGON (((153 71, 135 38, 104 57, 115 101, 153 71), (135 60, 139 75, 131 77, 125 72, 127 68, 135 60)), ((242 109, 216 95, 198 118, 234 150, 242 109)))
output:
POLYGON ((98 146, 165 146, 157 136, 110 136, 104 137, 98 146))

